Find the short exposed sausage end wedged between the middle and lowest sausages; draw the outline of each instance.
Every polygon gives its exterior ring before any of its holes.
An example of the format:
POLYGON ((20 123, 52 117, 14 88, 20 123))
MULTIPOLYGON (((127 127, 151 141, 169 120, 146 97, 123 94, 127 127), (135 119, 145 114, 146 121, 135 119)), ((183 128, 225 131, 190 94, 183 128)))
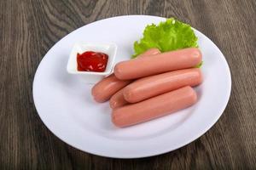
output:
POLYGON ((128 102, 124 98, 123 92, 124 88, 120 89, 116 94, 113 94, 113 96, 110 98, 109 105, 112 109, 128 104, 128 102))

